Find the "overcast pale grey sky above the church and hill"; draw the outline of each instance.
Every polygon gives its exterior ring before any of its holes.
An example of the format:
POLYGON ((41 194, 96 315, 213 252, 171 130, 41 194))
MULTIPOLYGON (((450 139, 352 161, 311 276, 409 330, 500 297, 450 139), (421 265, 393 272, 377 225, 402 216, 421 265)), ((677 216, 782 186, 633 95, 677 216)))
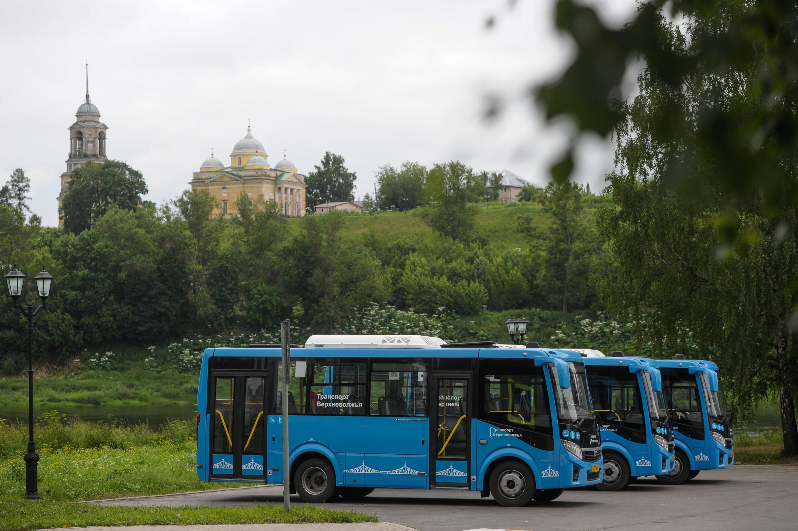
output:
MULTIPOLYGON (((591 2, 594 3, 594 2, 591 2)), ((622 21, 632 0, 600 2, 622 21)), ((67 128, 89 89, 109 126, 108 154, 141 171, 147 199, 188 188, 210 155, 229 163, 252 132, 271 164, 282 151, 301 173, 325 151, 373 193, 385 163, 460 159, 544 183, 562 134, 524 98, 571 53, 551 0, 451 2, 10 2, 0 7, 0 183, 31 179, 34 212, 57 224, 67 128), (493 30, 484 21, 496 14, 493 30), (484 94, 508 103, 481 120, 484 94)), ((602 188, 611 146, 582 149, 577 179, 602 188)))

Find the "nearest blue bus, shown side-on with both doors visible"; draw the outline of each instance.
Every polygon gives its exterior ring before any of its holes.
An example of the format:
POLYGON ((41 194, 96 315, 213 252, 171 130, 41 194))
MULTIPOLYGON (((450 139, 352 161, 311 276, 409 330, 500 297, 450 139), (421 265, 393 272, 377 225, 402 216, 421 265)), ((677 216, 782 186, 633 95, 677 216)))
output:
POLYGON ((280 362, 276 345, 204 352, 200 480, 290 481, 310 502, 377 487, 476 490, 508 506, 601 482, 601 441, 575 352, 311 336, 291 348, 285 397, 280 362))

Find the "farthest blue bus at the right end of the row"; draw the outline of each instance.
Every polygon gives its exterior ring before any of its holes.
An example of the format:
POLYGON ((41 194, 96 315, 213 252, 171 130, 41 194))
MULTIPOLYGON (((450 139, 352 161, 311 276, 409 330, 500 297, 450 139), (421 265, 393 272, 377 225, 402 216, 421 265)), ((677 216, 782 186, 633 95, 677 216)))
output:
POLYGON ((674 470, 657 476, 666 485, 679 485, 701 470, 734 464, 732 419, 726 407, 717 365, 711 361, 657 360, 662 389, 670 407, 676 455, 674 470))

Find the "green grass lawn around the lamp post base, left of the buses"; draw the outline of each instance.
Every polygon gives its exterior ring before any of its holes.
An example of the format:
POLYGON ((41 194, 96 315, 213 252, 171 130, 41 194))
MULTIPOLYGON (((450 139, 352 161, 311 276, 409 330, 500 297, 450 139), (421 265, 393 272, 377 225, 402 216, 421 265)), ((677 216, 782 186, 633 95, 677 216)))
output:
POLYGON ((238 524, 271 522, 377 521, 366 513, 282 505, 253 508, 109 507, 73 503, 98 498, 218 489, 196 478, 194 443, 161 442, 126 449, 69 446, 40 451, 40 501, 22 498, 25 463, 0 459, 0 529, 41 529, 85 525, 238 524))

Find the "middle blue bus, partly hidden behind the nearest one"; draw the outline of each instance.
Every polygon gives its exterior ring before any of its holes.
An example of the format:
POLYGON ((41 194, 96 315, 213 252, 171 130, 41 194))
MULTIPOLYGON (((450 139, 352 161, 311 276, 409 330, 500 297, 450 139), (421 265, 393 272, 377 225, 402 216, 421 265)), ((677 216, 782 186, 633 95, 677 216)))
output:
POLYGON ((650 358, 605 357, 594 350, 584 356, 587 385, 601 422, 604 459, 599 490, 621 490, 640 476, 673 470, 674 433, 657 363, 650 358))

